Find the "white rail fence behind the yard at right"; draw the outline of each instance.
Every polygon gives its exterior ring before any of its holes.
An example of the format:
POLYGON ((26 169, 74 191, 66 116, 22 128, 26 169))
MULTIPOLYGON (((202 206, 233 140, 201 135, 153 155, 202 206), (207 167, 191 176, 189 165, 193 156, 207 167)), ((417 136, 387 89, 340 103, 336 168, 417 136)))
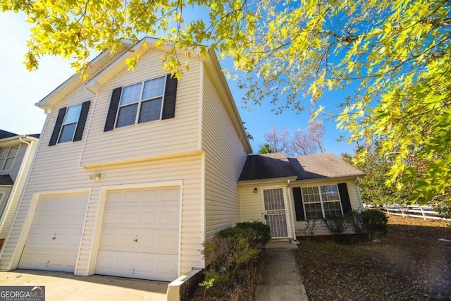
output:
MULTIPOLYGON (((373 207, 369 205, 368 207, 373 207)), ((444 214, 440 212, 434 211, 434 209, 430 206, 419 206, 417 204, 414 205, 400 205, 400 204, 391 204, 391 205, 383 205, 379 206, 378 209, 381 209, 386 214, 392 214, 397 216, 406 216, 406 217, 419 217, 420 219, 439 219, 442 221, 451 221, 445 217, 444 214)))

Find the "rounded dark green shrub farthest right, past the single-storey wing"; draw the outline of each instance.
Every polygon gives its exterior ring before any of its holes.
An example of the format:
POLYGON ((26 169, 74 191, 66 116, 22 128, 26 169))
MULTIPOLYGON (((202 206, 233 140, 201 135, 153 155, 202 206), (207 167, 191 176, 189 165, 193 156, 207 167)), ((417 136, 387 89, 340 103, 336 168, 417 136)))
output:
POLYGON ((370 209, 365 211, 351 211, 348 221, 357 234, 364 234, 368 240, 387 233, 387 216, 382 211, 370 209))

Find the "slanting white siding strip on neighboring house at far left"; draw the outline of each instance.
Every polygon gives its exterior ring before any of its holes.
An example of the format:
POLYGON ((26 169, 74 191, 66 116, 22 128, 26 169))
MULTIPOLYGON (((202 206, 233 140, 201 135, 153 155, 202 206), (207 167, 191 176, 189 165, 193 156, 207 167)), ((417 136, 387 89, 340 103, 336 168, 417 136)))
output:
MULTIPOLYGON (((37 148, 37 141, 30 142, 30 149, 27 152, 28 145, 23 143, 20 145, 18 155, 14 161, 11 173, 13 173, 14 185, 11 188, 10 195, 8 197, 8 203, 4 209, 4 212, 0 219, 0 238, 6 238, 9 226, 13 220, 14 212, 16 212, 17 204, 19 202, 20 195, 22 195, 25 180, 30 170, 33 156, 35 155, 37 148)), ((11 175, 11 173, 9 173, 11 175)), ((1 210, 1 208, 0 208, 1 210)))

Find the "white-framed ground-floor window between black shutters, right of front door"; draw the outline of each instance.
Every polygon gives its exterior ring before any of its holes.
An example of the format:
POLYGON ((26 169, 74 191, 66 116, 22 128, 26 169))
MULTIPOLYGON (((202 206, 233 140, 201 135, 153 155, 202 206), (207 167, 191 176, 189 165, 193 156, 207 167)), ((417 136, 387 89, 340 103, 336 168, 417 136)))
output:
POLYGON ((302 199, 307 220, 342 215, 337 185, 303 187, 302 199))

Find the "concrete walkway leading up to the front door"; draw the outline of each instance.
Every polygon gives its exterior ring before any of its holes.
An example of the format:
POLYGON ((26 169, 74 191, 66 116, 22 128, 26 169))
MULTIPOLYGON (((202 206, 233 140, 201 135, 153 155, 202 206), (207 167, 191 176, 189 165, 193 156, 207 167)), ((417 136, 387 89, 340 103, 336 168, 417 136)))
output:
POLYGON ((256 301, 308 301, 290 242, 269 242, 255 290, 256 301))

